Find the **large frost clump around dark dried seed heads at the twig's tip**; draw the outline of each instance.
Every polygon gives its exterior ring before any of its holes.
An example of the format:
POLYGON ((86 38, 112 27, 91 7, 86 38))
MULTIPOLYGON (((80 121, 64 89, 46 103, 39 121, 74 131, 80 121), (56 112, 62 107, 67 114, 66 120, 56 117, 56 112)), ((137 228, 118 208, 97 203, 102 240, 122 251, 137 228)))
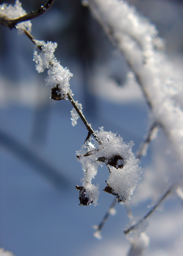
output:
POLYGON ((98 186, 92 184, 91 180, 96 176, 98 166, 105 164, 109 168, 109 178, 104 191, 117 196, 118 201, 123 204, 124 201, 130 200, 137 182, 141 179, 142 170, 131 151, 134 143, 124 143, 120 135, 116 137, 116 134, 104 131, 103 127, 94 133, 100 143, 91 139, 76 152, 84 171, 82 200, 86 200, 85 205, 92 202, 97 204, 98 186))

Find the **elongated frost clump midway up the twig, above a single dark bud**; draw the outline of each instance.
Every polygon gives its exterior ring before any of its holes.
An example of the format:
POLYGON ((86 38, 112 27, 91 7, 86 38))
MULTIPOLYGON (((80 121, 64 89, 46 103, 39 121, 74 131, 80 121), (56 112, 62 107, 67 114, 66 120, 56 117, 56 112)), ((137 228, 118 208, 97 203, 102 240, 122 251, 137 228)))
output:
MULTIPOLYGON (((33 61, 36 62, 36 70, 38 73, 48 69, 48 77, 46 80, 46 85, 51 85, 55 91, 58 91, 60 99, 64 98, 67 92, 72 92, 70 89, 69 80, 72 77, 72 73, 60 65, 57 61, 54 52, 57 47, 57 43, 44 41, 35 41, 37 45, 41 46, 41 52, 38 54, 37 50, 34 50, 33 61)), ((53 89, 52 88, 52 89, 53 89)))

